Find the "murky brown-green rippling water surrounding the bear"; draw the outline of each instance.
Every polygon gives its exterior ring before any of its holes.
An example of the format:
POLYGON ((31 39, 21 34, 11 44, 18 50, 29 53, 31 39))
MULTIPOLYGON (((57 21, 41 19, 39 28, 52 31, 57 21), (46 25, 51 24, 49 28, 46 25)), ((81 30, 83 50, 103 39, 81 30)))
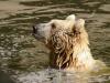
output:
POLYGON ((0 76, 14 83, 110 83, 109 69, 86 74, 47 69, 50 51, 32 37, 32 25, 72 13, 86 19, 92 55, 109 68, 109 0, 0 0, 0 76))

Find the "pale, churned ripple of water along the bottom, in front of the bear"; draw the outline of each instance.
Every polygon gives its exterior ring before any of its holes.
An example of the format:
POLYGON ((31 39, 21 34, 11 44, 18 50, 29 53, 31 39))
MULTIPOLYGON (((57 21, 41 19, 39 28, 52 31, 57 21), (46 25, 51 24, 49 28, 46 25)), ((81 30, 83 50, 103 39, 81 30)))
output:
POLYGON ((109 82, 109 74, 90 75, 90 73, 65 72, 54 69, 46 69, 38 72, 30 72, 13 75, 22 83, 105 83, 109 82))

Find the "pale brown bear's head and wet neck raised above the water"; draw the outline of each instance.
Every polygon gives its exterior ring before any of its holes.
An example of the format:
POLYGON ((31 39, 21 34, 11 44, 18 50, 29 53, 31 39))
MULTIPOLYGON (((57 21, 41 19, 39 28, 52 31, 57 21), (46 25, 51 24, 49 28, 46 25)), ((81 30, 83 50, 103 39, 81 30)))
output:
POLYGON ((55 69, 87 71, 92 70, 92 58, 85 20, 75 14, 64 20, 53 19, 33 27, 33 35, 47 46, 50 65, 55 69))

